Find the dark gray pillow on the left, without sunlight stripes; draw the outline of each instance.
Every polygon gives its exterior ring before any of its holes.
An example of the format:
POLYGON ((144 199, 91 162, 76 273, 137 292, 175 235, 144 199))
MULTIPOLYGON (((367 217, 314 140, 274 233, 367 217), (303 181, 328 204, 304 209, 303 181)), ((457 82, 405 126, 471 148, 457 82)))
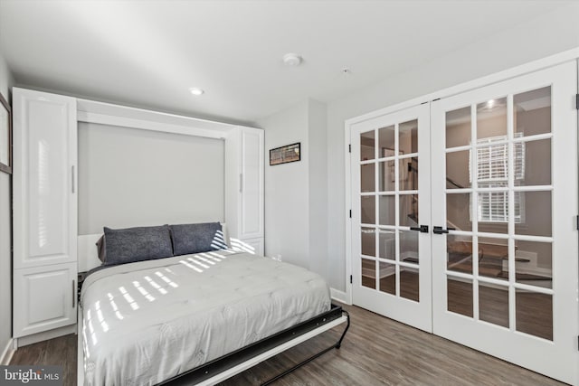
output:
POLYGON ((173 256, 168 225, 104 231, 106 266, 173 256))

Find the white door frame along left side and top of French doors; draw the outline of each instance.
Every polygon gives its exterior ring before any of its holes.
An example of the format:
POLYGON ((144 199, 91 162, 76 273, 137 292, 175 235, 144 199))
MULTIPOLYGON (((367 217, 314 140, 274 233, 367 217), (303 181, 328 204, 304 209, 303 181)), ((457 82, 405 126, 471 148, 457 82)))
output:
MULTIPOLYGON (((377 118, 386 114, 394 113, 396 111, 402 110, 404 108, 410 108, 415 105, 419 105, 423 102, 429 102, 434 99, 441 99, 451 97, 452 95, 460 94, 471 89, 478 89, 482 86, 488 86, 499 81, 508 80, 515 78, 520 75, 525 75, 529 72, 535 72, 539 70, 546 69, 548 67, 555 66, 557 64, 564 63, 565 61, 577 61, 579 58, 579 47, 565 52, 556 53, 555 55, 547 56, 546 58, 539 59, 537 61, 531 61, 522 64, 517 67, 505 71, 499 71, 494 74, 478 78, 476 80, 470 80, 459 85, 449 87, 447 89, 441 89, 430 94, 423 95, 422 97, 409 99, 401 103, 397 103, 393 106, 387 108, 380 108, 378 110, 369 112, 367 114, 346 119, 344 122, 344 176, 345 176, 345 201, 344 201, 344 223, 346 231, 346 242, 345 242, 345 277, 344 283, 346 284, 346 303, 352 304, 352 286, 350 284, 350 276, 352 273, 352 224, 350 219, 350 210, 352 209, 352 180, 351 180, 351 157, 350 157, 350 132, 351 127, 356 123, 364 122, 365 120, 377 118)), ((337 291, 336 291, 337 292, 337 291)))

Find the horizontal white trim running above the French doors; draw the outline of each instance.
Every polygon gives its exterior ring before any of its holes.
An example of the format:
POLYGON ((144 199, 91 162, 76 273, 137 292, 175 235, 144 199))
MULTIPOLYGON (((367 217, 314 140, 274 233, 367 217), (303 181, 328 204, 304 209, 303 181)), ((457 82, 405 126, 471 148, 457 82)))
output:
POLYGON ((479 87, 489 86, 490 84, 497 83, 503 80, 508 80, 510 78, 515 78, 520 75, 525 75, 529 72, 543 70, 548 67, 555 66, 556 64, 562 64, 565 61, 575 61, 577 60, 577 58, 579 58, 579 47, 568 51, 555 53, 555 55, 547 56, 546 58, 538 59, 536 61, 530 61, 528 63, 512 67, 508 70, 498 71, 493 74, 477 78, 475 80, 469 80, 460 83, 456 86, 451 86, 446 89, 434 91, 430 94, 422 95, 421 97, 418 98, 409 99, 386 108, 380 108, 378 110, 371 111, 369 113, 366 113, 364 115, 355 118, 346 119, 345 121, 346 129, 347 127, 355 123, 363 122, 371 118, 380 117, 385 114, 390 114, 395 111, 402 110, 404 108, 410 108, 419 105, 422 102, 451 97, 452 95, 460 94, 462 92, 469 91, 471 89, 479 89, 479 87))

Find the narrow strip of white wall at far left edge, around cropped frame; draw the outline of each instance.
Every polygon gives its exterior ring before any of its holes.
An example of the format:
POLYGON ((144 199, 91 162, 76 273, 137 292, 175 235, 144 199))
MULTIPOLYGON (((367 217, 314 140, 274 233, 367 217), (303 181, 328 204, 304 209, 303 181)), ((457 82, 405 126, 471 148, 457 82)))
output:
MULTIPOLYGON (((14 85, 12 75, 0 52, 0 93, 10 103, 10 89, 14 85)), ((12 337, 12 216, 10 211, 11 176, 0 172, 0 356, 12 337)), ((0 360, 2 358, 0 357, 0 360)), ((4 364, 4 363, 3 363, 4 364)))

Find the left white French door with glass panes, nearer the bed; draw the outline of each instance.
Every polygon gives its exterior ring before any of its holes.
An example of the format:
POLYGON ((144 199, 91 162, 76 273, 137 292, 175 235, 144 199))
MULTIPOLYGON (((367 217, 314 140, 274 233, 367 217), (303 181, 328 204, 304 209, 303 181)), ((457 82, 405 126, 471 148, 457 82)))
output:
POLYGON ((351 131, 353 302, 432 331, 429 105, 351 131))

